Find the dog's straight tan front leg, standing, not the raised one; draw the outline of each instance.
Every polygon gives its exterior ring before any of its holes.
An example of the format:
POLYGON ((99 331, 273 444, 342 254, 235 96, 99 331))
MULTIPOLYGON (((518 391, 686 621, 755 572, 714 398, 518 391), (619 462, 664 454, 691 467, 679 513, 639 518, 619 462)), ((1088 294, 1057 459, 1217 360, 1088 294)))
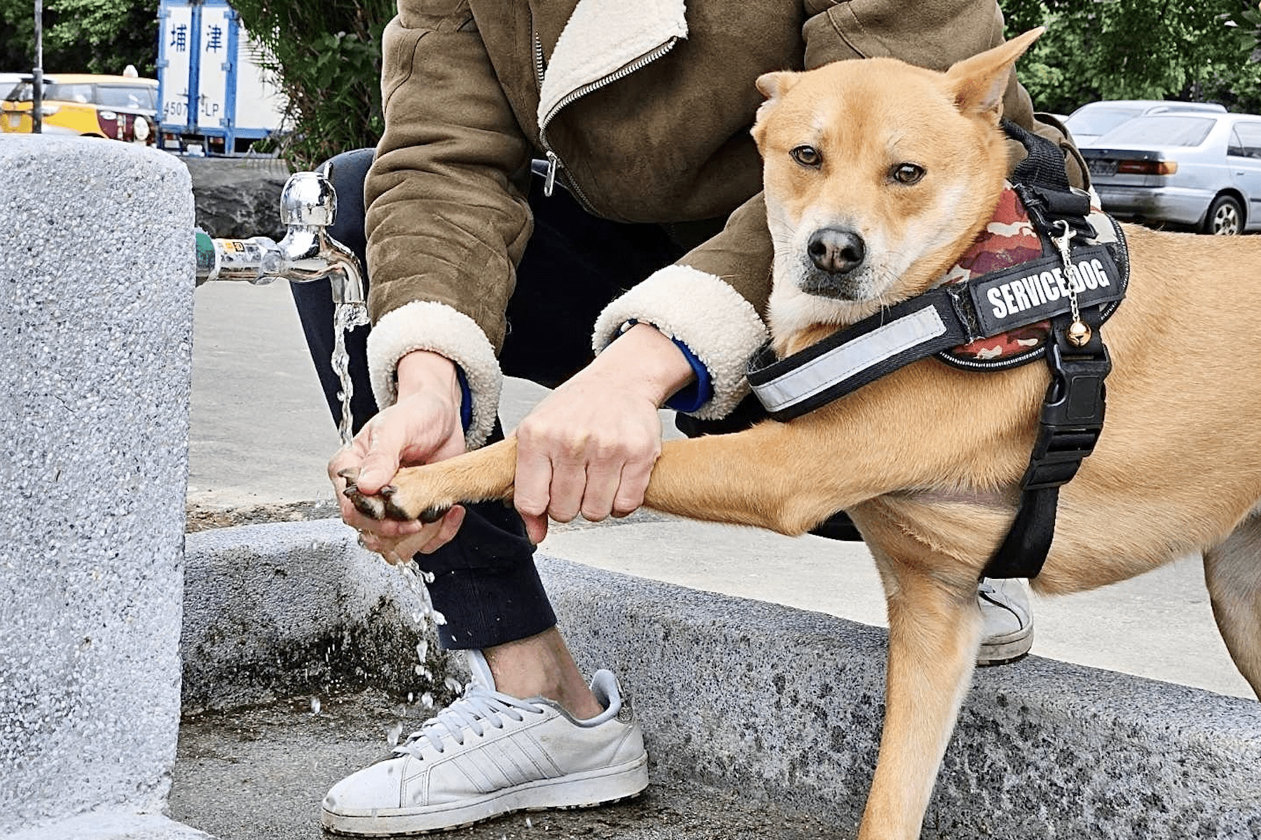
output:
POLYGON ((859 840, 919 836, 937 769, 967 693, 981 615, 976 577, 873 547, 889 599, 884 732, 859 840))

